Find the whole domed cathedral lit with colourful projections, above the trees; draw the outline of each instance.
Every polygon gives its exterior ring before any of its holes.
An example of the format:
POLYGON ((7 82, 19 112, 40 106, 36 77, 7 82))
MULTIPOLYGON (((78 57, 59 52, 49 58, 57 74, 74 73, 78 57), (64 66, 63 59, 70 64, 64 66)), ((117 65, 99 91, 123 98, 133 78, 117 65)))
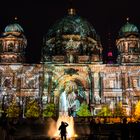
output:
POLYGON ((44 36, 39 64, 25 63, 27 42, 18 23, 7 25, 0 36, 0 102, 5 105, 32 98, 67 113, 85 102, 96 115, 103 105, 122 102, 130 115, 139 101, 140 33, 129 21, 118 31, 117 63, 111 51, 103 63, 99 35, 72 8, 44 36))

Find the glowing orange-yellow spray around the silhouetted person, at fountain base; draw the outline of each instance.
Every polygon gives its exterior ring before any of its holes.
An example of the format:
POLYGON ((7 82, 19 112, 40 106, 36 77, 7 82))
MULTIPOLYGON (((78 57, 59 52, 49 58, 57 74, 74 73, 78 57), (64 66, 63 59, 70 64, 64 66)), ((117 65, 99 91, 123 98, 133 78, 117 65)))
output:
POLYGON ((73 117, 69 117, 69 116, 59 116, 57 122, 55 122, 54 120, 49 121, 50 127, 49 127, 47 135, 51 138, 53 138, 53 137, 59 138, 60 131, 58 129, 59 129, 62 121, 68 123, 68 126, 66 128, 67 129, 67 138, 74 140, 74 137, 78 137, 78 135, 76 135, 74 133, 73 117))

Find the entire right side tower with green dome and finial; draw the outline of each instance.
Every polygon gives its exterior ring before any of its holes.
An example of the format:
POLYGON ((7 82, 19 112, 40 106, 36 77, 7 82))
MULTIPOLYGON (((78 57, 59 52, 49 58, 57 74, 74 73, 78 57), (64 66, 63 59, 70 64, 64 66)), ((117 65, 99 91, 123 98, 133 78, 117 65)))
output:
POLYGON ((118 48, 117 61, 121 65, 140 64, 140 34, 138 28, 129 23, 121 27, 116 46, 118 48))

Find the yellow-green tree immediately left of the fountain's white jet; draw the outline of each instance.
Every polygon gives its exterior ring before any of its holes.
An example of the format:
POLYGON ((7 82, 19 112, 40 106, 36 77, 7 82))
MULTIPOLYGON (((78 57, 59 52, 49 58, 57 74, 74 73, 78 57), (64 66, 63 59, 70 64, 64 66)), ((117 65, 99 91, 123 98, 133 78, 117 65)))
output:
POLYGON ((56 112, 55 112, 55 104, 49 103, 46 105, 46 108, 43 110, 43 117, 55 117, 56 112))

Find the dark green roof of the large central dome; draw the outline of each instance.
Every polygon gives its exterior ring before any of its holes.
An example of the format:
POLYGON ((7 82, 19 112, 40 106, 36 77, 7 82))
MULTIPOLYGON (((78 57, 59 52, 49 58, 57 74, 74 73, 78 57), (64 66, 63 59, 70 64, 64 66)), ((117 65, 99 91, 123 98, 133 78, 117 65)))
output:
POLYGON ((96 31, 93 26, 85 19, 77 15, 67 15, 58 20, 48 31, 47 37, 55 37, 56 35, 72 35, 77 34, 81 37, 96 38, 96 31))

